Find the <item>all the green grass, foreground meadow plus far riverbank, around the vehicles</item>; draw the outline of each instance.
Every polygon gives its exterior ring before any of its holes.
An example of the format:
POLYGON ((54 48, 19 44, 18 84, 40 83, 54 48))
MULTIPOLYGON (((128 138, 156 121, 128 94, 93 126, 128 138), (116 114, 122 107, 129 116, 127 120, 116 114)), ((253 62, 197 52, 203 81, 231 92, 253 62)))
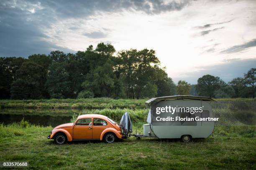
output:
MULTIPOLYGON (((0 110, 6 114, 24 114, 26 110, 26 114, 54 116, 96 113, 117 122, 128 111, 133 131, 138 128, 141 132, 148 111, 145 101, 0 100, 0 110)), ((91 141, 55 145, 46 139, 52 127, 24 122, 0 124, 0 161, 28 161, 28 169, 256 169, 256 126, 236 120, 247 117, 254 123, 256 100, 221 99, 212 107, 221 120, 216 122, 213 136, 190 143, 131 137, 113 144, 91 141)))

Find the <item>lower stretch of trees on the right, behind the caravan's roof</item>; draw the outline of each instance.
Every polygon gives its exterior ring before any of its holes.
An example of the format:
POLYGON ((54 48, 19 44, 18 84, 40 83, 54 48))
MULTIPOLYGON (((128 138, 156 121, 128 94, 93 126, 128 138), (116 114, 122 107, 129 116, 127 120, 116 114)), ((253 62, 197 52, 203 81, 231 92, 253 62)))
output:
POLYGON ((179 80, 177 94, 214 98, 254 98, 256 95, 255 85, 256 68, 251 68, 243 77, 236 77, 228 83, 213 75, 204 75, 198 78, 196 85, 190 85, 186 81, 179 80))

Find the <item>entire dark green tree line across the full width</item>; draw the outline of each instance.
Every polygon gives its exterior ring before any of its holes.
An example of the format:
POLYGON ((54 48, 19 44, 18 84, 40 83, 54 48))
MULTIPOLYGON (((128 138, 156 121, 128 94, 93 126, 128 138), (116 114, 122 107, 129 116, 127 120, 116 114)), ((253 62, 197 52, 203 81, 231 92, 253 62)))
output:
POLYGON ((197 85, 182 80, 175 85, 154 50, 115 52, 113 45, 99 43, 75 54, 56 50, 28 58, 0 57, 0 99, 255 95, 255 68, 229 83, 204 75, 197 85))

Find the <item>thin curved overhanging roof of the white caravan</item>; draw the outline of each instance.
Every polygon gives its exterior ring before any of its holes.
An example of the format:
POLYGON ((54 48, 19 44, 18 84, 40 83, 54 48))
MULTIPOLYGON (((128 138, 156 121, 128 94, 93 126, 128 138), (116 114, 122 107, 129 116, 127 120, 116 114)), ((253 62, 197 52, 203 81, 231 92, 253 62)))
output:
POLYGON ((164 97, 154 97, 146 101, 146 104, 150 104, 153 101, 161 100, 179 100, 179 99, 190 99, 190 100, 203 100, 203 101, 215 101, 211 97, 191 96, 191 95, 173 95, 164 97))

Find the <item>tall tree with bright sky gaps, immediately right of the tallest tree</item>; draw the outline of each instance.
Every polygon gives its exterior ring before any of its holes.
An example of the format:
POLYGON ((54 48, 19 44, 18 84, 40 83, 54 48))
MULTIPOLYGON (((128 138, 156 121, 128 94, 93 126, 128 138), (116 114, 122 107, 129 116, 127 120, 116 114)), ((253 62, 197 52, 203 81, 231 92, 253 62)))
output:
POLYGON ((126 85, 128 98, 140 98, 141 92, 149 89, 148 82, 154 82, 159 73, 160 61, 154 50, 123 50, 118 53, 121 58, 121 72, 126 85))

